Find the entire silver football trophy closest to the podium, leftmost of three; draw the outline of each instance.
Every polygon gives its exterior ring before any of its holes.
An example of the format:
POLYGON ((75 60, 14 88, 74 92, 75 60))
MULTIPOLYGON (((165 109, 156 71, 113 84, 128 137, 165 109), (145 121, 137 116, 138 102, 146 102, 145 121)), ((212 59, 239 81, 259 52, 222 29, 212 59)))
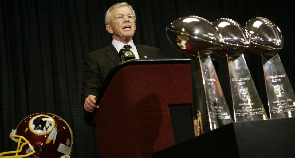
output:
POLYGON ((197 16, 175 20, 166 28, 174 47, 191 56, 195 135, 232 122, 223 92, 210 58, 221 49, 222 38, 209 21, 197 16))

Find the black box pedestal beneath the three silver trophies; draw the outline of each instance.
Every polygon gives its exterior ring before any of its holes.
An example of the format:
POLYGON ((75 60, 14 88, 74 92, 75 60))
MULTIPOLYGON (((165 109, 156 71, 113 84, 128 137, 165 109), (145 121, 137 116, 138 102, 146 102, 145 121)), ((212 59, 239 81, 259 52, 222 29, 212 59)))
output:
POLYGON ((230 123, 159 152, 157 157, 294 157, 295 118, 230 123))

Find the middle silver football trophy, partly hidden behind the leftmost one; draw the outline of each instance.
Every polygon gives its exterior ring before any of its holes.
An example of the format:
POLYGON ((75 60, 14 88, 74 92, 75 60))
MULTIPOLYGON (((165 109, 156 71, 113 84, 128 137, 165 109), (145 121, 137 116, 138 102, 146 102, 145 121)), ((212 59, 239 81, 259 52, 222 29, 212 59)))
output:
POLYGON ((221 18, 213 26, 223 38, 223 48, 218 55, 227 57, 234 121, 265 120, 267 115, 247 67, 244 55, 250 45, 248 34, 237 22, 221 18))

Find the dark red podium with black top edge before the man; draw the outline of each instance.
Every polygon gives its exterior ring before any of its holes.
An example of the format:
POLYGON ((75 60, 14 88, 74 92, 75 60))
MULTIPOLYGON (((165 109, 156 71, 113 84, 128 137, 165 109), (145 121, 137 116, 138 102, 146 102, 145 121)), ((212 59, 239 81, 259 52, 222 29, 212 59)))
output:
POLYGON ((191 104, 191 89, 189 59, 130 60, 114 67, 94 118, 100 156, 152 157, 174 145, 168 105, 191 104))

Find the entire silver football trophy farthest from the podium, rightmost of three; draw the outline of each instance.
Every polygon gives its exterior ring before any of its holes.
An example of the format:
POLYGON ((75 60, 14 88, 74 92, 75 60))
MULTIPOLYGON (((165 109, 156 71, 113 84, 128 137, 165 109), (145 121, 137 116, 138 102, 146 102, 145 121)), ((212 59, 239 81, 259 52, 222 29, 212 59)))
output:
POLYGON ((249 50, 262 57, 270 118, 295 117, 295 94, 277 54, 283 48, 283 35, 269 19, 258 17, 246 22, 249 50))

